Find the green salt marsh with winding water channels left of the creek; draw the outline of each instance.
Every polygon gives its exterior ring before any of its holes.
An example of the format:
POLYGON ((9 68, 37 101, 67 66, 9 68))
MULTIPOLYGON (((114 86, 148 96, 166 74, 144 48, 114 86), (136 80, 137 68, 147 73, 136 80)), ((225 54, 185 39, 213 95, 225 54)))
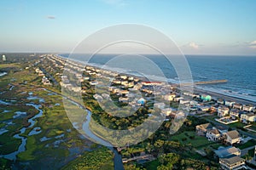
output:
MULTIPOLYGON (((61 93, 58 88, 42 86, 41 78, 37 76, 34 69, 25 70, 24 65, 1 64, 0 71, 8 71, 7 75, 0 77, 0 92, 4 92, 0 94, 0 99, 12 103, 12 105, 0 105, 0 127, 9 130, 0 135, 1 155, 18 150, 21 139, 15 139, 13 136, 15 133, 20 133, 21 127, 29 125, 27 124, 28 118, 38 113, 34 107, 27 106, 27 103, 42 105, 43 116, 35 120, 33 127, 27 127, 25 133, 20 134, 26 137, 26 150, 17 155, 17 162, 26 161, 31 167, 47 165, 51 168, 60 168, 67 160, 73 160, 84 150, 94 150, 90 148, 92 143, 87 139, 82 139, 80 133, 73 128, 63 107, 62 97, 52 95, 43 89, 49 88, 61 93), (11 86, 14 88, 9 90, 11 86), (32 96, 44 99, 44 103, 39 103, 38 99, 27 99, 30 92, 32 96), (15 111, 26 111, 26 115, 13 118, 15 111), (8 125, 7 122, 13 122, 13 124, 8 125), (34 127, 40 127, 41 133, 29 136, 28 133, 34 127), (49 139, 41 141, 40 139, 43 138, 49 139), (69 150, 73 148, 78 151, 71 154, 69 150), (45 164, 46 160, 47 164, 45 164)), ((9 165, 9 163, 5 164, 9 165)))

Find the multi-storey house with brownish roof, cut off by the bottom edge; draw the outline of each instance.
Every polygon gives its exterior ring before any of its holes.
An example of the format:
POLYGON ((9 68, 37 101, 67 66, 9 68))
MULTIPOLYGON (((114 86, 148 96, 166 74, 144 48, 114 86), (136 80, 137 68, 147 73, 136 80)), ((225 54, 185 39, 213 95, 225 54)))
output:
POLYGON ((238 170, 238 169, 247 169, 245 160, 239 156, 231 156, 228 158, 219 159, 220 167, 224 170, 238 170))

